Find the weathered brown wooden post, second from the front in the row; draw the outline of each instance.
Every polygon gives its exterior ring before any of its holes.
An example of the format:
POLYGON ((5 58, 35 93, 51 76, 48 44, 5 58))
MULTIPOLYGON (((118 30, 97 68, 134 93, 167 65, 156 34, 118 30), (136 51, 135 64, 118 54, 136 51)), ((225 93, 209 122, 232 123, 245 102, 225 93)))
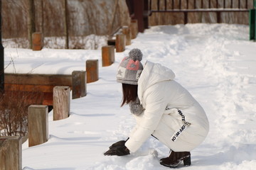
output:
POLYGON ((28 147, 48 141, 48 106, 28 107, 28 147))

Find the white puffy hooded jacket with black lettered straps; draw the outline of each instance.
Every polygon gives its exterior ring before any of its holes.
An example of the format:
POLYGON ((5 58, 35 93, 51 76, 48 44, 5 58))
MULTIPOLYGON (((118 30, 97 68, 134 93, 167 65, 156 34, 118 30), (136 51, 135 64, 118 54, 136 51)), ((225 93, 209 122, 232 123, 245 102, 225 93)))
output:
POLYGON ((145 110, 134 115, 137 125, 125 143, 131 152, 136 152, 150 135, 174 152, 191 151, 206 138, 206 113, 174 77, 171 69, 146 62, 138 81, 138 97, 145 110))

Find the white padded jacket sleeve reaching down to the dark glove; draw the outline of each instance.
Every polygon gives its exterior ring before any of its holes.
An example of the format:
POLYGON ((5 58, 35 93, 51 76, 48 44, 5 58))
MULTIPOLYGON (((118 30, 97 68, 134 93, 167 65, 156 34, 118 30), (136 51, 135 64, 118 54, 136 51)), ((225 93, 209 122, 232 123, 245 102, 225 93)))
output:
POLYGON ((131 152, 136 152, 154 132, 167 106, 167 102, 164 100, 164 90, 159 90, 158 84, 151 86, 145 92, 147 95, 144 96, 144 103, 146 103, 144 115, 136 130, 125 143, 131 152))

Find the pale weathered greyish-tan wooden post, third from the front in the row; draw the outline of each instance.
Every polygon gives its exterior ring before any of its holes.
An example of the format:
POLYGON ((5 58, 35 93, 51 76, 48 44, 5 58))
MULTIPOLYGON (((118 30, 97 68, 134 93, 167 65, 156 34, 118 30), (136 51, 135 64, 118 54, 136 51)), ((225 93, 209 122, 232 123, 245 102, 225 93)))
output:
POLYGON ((55 86, 53 88, 53 120, 68 118, 70 115, 70 87, 55 86))

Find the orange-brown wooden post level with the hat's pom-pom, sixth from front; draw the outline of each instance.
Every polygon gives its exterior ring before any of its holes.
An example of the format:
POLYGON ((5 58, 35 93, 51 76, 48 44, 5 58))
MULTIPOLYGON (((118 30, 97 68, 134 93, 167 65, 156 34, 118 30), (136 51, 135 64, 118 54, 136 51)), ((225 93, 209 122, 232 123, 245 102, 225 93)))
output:
POLYGON ((102 47, 102 67, 110 66, 114 63, 114 46, 106 45, 102 47))

